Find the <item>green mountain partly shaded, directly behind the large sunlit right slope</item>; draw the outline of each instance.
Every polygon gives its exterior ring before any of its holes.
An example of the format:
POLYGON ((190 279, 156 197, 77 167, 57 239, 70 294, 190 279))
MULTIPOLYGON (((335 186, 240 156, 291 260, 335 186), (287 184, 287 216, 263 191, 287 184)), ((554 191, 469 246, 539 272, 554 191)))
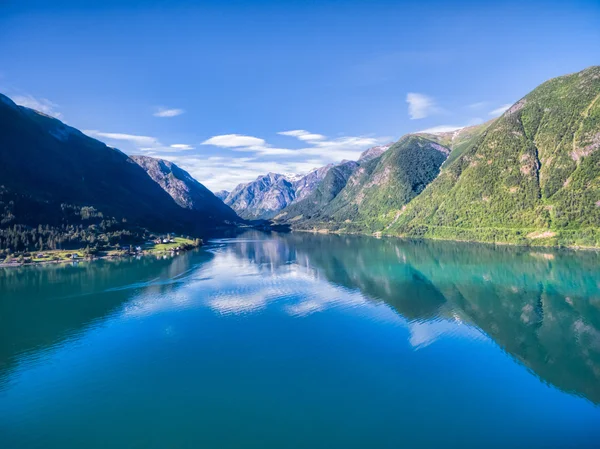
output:
POLYGON ((439 173, 450 150, 422 136, 408 135, 379 157, 353 171, 329 203, 293 224, 296 229, 339 232, 383 230, 439 173))

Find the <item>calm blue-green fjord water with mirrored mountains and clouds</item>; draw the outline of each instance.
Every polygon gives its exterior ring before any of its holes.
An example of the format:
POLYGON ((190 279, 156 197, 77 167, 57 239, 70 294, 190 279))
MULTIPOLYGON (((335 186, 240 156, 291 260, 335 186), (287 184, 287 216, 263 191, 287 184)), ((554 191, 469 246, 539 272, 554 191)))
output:
POLYGON ((0 447, 597 448, 599 262, 249 232, 3 269, 0 447))

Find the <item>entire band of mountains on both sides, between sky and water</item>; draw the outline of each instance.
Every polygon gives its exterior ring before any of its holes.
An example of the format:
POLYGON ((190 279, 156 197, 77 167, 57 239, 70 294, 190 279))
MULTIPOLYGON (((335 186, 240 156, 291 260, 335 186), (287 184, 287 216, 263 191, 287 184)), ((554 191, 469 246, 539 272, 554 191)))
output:
POLYGON ((0 95, 0 249, 256 219, 315 232, 598 247, 599 148, 598 66, 547 81, 490 122, 409 134, 357 161, 268 173, 216 195, 175 164, 127 156, 0 95))

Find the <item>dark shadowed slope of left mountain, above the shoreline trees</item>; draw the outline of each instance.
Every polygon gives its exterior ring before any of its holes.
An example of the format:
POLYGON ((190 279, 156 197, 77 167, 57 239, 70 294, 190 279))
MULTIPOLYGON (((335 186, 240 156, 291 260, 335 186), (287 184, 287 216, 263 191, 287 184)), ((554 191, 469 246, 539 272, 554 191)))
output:
POLYGON ((0 95, 0 180, 39 201, 165 224, 178 206, 127 155, 0 95))

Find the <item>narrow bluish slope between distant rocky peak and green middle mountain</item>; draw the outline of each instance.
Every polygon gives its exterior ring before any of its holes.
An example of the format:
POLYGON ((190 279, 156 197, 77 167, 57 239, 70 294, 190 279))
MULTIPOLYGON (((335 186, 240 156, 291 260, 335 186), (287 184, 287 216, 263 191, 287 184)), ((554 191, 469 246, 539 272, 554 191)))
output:
POLYGON ((331 167, 325 179, 310 195, 283 209, 275 219, 286 222, 310 219, 341 192, 357 168, 358 163, 354 161, 343 162, 331 167))

